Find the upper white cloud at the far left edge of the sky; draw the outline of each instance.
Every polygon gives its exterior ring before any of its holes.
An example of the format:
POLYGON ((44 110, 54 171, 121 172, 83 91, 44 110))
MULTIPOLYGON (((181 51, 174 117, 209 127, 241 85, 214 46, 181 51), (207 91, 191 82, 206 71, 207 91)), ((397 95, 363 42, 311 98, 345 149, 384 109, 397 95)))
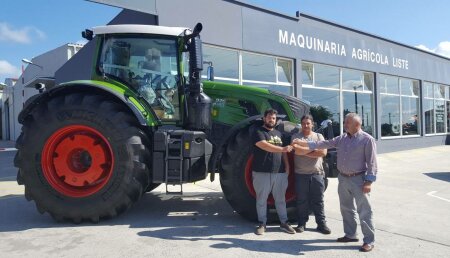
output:
POLYGON ((0 41, 29 44, 32 38, 44 39, 45 33, 35 27, 12 28, 9 24, 0 22, 0 41))

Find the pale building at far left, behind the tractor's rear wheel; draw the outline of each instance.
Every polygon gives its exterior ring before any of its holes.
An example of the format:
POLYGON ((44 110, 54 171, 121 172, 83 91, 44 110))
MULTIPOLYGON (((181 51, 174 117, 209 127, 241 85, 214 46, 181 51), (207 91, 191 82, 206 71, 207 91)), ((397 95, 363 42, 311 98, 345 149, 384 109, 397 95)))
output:
POLYGON ((17 121, 25 101, 38 94, 34 83, 40 77, 54 77, 55 72, 74 56, 83 45, 65 44, 31 59, 23 74, 16 80, 5 80, 2 99, 2 139, 16 140, 20 135, 21 125, 17 121))

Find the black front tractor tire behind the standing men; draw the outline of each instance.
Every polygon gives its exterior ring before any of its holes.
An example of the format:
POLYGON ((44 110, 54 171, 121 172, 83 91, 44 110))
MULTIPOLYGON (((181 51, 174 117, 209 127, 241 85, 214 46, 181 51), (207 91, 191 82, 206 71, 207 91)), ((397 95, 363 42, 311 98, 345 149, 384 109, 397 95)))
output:
MULTIPOLYGON (((257 221, 256 199, 250 192, 246 182, 246 165, 252 155, 252 137, 254 126, 246 127, 231 137, 227 143, 220 162, 220 184, 225 198, 231 207, 244 218, 257 221)), ((248 173, 248 171, 247 171, 248 173)), ((248 176, 248 175, 247 175, 248 176)), ((293 175, 289 179, 288 192, 294 190, 293 175)), ((295 190, 294 190, 295 191, 295 190)), ((295 198, 286 202, 289 221, 296 221, 295 198)), ((275 206, 268 203, 267 222, 277 222, 278 215, 275 206)))

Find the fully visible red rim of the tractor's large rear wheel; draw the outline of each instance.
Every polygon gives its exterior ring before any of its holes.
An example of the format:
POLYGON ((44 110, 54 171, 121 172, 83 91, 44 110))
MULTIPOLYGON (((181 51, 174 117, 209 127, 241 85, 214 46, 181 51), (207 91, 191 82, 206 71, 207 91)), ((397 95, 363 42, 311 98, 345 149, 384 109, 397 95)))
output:
POLYGON ((108 183, 114 157, 108 140, 97 130, 70 125, 53 133, 42 151, 47 182, 69 197, 86 197, 108 183))

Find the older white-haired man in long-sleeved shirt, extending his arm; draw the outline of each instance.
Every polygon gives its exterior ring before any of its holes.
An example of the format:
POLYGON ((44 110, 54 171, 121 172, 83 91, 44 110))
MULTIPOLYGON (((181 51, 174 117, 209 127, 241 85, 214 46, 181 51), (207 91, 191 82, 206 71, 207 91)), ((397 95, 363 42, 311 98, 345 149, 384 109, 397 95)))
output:
POLYGON ((356 211, 364 235, 360 251, 372 251, 375 243, 372 207, 369 193, 377 177, 377 158, 375 139, 361 130, 361 117, 349 113, 344 121, 345 134, 326 141, 306 141, 296 139, 293 144, 307 149, 337 149, 339 170, 338 194, 345 236, 338 242, 357 242, 356 211), (356 202, 356 209, 355 209, 356 202))

